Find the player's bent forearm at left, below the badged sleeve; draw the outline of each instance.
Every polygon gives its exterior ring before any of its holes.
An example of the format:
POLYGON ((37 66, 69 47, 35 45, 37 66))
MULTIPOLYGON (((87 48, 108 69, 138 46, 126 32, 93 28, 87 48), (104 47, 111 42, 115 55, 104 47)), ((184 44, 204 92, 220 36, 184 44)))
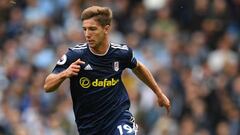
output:
POLYGON ((61 83, 66 79, 65 72, 61 72, 58 74, 50 74, 45 80, 44 89, 46 92, 53 92, 55 91, 61 83))

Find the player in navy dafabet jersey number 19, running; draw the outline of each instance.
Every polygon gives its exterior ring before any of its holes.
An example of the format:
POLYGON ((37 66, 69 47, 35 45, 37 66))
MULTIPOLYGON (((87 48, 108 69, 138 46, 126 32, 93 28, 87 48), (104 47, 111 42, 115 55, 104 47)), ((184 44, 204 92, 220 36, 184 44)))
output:
POLYGON ((149 70, 125 44, 109 42, 112 11, 92 6, 82 12, 86 43, 70 48, 45 80, 46 92, 56 90, 67 78, 80 135, 135 135, 136 125, 129 112, 129 97, 121 80, 130 68, 157 95, 169 112, 170 102, 149 70))

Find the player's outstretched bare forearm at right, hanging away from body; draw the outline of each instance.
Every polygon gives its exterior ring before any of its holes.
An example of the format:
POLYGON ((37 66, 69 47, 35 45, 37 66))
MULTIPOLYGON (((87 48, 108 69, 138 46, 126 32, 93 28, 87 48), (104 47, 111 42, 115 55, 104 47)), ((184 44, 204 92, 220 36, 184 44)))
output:
POLYGON ((133 72, 140 80, 151 88, 158 97, 162 96, 162 90, 153 78, 152 73, 141 62, 138 62, 138 65, 133 69, 133 72))

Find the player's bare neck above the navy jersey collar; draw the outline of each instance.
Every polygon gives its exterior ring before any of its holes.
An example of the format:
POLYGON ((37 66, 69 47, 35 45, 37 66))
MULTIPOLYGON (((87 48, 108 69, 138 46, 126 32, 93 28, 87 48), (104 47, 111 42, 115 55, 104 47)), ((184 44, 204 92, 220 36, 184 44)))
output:
POLYGON ((103 40, 99 45, 97 45, 95 47, 89 47, 89 49, 91 50, 91 52, 93 52, 94 54, 97 54, 97 55, 106 54, 109 49, 108 39, 103 40))

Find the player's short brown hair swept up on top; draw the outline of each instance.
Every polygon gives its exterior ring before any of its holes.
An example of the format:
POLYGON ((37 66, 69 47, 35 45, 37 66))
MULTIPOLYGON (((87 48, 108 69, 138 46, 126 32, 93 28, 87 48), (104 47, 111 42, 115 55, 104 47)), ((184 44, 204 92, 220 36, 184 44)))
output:
POLYGON ((112 10, 108 7, 91 6, 83 10, 81 20, 94 18, 102 26, 111 25, 112 10))

